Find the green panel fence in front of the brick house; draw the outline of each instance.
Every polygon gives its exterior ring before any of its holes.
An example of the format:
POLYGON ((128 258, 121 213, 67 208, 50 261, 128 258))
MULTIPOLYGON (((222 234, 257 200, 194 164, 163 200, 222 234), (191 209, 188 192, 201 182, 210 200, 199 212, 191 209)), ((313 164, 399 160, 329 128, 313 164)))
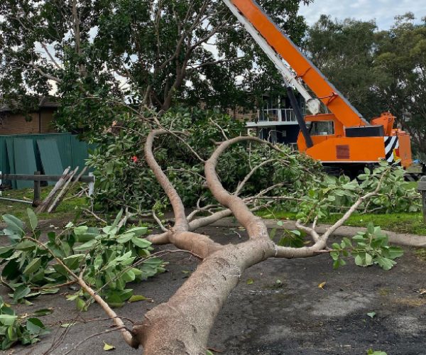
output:
MULTIPOLYGON (((85 165, 94 145, 71 133, 0 136, 0 171, 4 174, 62 175, 63 170, 85 165)), ((52 183, 52 182, 50 182, 52 183)), ((33 187, 31 181, 9 181, 13 188, 33 187)))

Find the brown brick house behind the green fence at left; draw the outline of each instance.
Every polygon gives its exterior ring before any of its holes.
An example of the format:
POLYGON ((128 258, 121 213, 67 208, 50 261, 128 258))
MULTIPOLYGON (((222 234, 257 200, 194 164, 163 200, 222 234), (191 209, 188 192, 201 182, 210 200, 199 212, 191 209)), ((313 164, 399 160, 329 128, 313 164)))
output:
POLYGON ((59 103, 54 97, 42 97, 38 110, 24 115, 10 107, 0 107, 0 136, 10 134, 55 133, 51 123, 59 103), (29 117, 28 117, 29 116, 29 117))

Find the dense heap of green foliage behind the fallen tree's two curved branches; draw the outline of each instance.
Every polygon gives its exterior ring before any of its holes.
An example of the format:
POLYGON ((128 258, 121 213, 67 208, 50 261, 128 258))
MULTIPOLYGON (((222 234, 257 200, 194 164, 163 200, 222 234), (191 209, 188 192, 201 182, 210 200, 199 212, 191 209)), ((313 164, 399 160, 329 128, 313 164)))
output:
MULTIPOLYGON (((147 117, 152 115, 153 112, 146 112, 147 117)), ((216 146, 214 142, 224 141, 224 136, 244 136, 244 122, 218 111, 185 108, 168 111, 160 121, 163 127, 185 133, 185 143, 171 135, 160 138, 155 147, 155 158, 180 193, 185 206, 196 207, 199 199, 203 205, 216 203, 204 187, 202 160, 207 160, 216 146)), ((98 148, 89 160, 96 175, 97 202, 112 208, 122 204, 136 209, 141 207, 140 211, 149 210, 154 204, 168 204, 143 158, 143 144, 150 130, 151 124, 146 119, 126 116, 121 120, 120 128, 104 133, 97 140, 98 148)), ((284 146, 281 148, 286 155, 258 145, 241 144, 230 148, 217 167, 222 184, 235 191, 253 167, 271 160, 253 172, 241 195, 256 195, 271 185, 276 185, 273 191, 276 195, 302 194, 316 183, 318 176, 323 175, 320 164, 306 155, 290 153, 284 146), (304 181, 300 180, 302 175, 305 175, 304 181)))

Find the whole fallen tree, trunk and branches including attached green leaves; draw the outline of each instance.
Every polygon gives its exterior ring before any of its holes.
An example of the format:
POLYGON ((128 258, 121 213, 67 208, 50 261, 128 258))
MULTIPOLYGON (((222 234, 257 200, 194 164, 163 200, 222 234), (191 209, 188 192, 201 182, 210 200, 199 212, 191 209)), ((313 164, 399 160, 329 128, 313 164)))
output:
MULTIPOLYGON (((158 120, 155 121, 155 124, 161 127, 158 120)), ((170 131, 165 128, 153 129, 146 137, 144 153, 146 163, 151 168, 155 179, 170 200, 175 222, 173 226, 166 228, 160 219, 156 218, 163 233, 151 234, 146 239, 152 244, 173 244, 178 248, 179 252, 186 251, 187 253, 191 253, 193 256, 199 258, 201 263, 175 295, 170 297, 168 302, 160 304, 147 312, 143 321, 134 324, 133 329, 126 327, 125 320, 121 320, 119 315, 111 309, 111 305, 116 300, 114 297, 109 299, 109 290, 106 289, 113 287, 119 288, 119 290, 123 289, 125 283, 119 286, 116 278, 120 278, 122 274, 124 275, 124 273, 128 273, 129 271, 133 271, 133 274, 136 273, 136 268, 140 266, 141 262, 144 262, 143 260, 135 261, 138 255, 137 252, 135 253, 137 250, 134 246, 128 246, 126 242, 131 239, 132 243, 138 247, 148 247, 150 245, 143 244, 143 239, 140 240, 138 236, 133 235, 136 229, 129 231, 124 229, 124 224, 128 217, 127 214, 123 219, 121 219, 121 214, 119 214, 112 226, 102 229, 103 234, 99 234, 100 232, 97 231, 91 234, 92 236, 96 235, 96 237, 92 237, 86 243, 77 247, 71 246, 70 250, 77 251, 77 254, 73 253, 69 256, 62 256, 55 249, 56 238, 54 236, 49 236, 50 241, 48 243, 43 243, 38 239, 40 232, 36 231, 37 220, 35 214, 31 211, 31 213, 29 212, 29 217, 33 236, 24 236, 25 227, 22 222, 9 218, 11 224, 14 224, 16 229, 18 229, 18 234, 22 235, 23 239, 31 241, 31 249, 35 250, 33 260, 28 260, 28 266, 24 265, 25 270, 23 274, 32 275, 33 271, 37 271, 37 266, 40 266, 40 255, 50 254, 51 258, 43 256, 43 265, 45 265, 43 269, 48 268, 48 266, 55 266, 56 269, 63 271, 63 275, 67 275, 70 279, 67 278, 64 280, 66 284, 79 283, 82 290, 78 291, 72 297, 89 298, 86 304, 83 300, 79 299, 78 304, 81 304, 80 308, 84 309, 92 300, 97 302, 111 320, 114 321, 114 329, 119 330, 123 334, 125 342, 136 349, 142 346, 144 354, 205 354, 209 333, 214 321, 224 302, 226 302, 227 297, 229 297, 231 291, 239 283, 242 273, 244 273, 246 268, 256 263, 261 263, 261 261, 265 261, 268 258, 307 258, 320 255, 321 253, 329 253, 334 260, 334 267, 344 265, 346 263, 345 258, 354 256, 355 263, 359 266, 378 264, 381 268, 388 270, 395 265, 394 259, 402 255, 400 249, 388 246, 387 236, 383 235, 378 227, 372 225, 368 226, 366 232, 354 236, 352 241, 346 238, 341 244, 334 243, 331 248, 327 246, 329 237, 332 236, 339 226, 344 224, 346 219, 356 209, 365 207, 371 198, 383 195, 383 185, 387 185, 388 181, 390 181, 389 179, 395 173, 393 167, 383 163, 380 168, 371 173, 368 180, 364 181, 368 183, 363 182, 361 184, 366 187, 366 190, 356 190, 355 186, 358 185, 356 181, 346 182, 342 187, 336 187, 335 191, 338 192, 338 195, 341 195, 343 188, 350 191, 349 195, 351 197, 354 197, 354 195, 358 197, 347 209, 344 216, 336 224, 329 226, 320 235, 315 231, 315 227, 324 206, 327 207, 330 201, 327 194, 312 195, 316 200, 309 200, 303 196, 274 196, 274 193, 282 191, 280 190, 281 184, 278 182, 257 192, 255 195, 239 196, 241 191, 244 190, 244 184, 253 176, 253 173, 263 165, 271 163, 273 159, 263 160, 254 165, 246 175, 246 178, 241 180, 234 193, 230 193, 223 187, 217 174, 217 165, 224 152, 231 148, 231 146, 244 143, 267 146, 268 149, 280 155, 278 158, 284 166, 288 166, 286 159, 294 158, 290 157, 286 151, 282 151, 280 147, 273 146, 271 143, 252 136, 238 136, 228 139, 224 135, 224 141, 214 143, 215 148, 207 160, 204 161, 200 157, 200 160, 204 164, 206 187, 217 200, 219 206, 222 206, 222 209, 217 209, 217 204, 207 204, 201 207, 199 203, 195 211, 187 214, 180 195, 155 159, 155 148, 158 147, 159 143, 163 142, 158 138, 167 135, 183 139, 182 136, 185 136, 186 133, 182 131, 170 131), (305 217, 297 222, 298 231, 294 232, 297 232, 299 235, 301 231, 305 233, 310 237, 309 243, 304 241, 302 245, 299 245, 300 247, 297 247, 292 244, 288 246, 285 243, 281 243, 281 241, 275 242, 273 235, 268 233, 263 220, 253 214, 253 211, 256 209, 268 207, 272 203, 275 203, 276 200, 297 200, 300 204, 305 204, 305 209, 302 209, 305 211, 305 217), (195 219, 197 214, 204 212, 209 212, 209 215, 195 219), (244 226, 249 236, 248 240, 235 245, 222 245, 209 238, 209 236, 196 232, 200 227, 207 226, 222 217, 230 215, 233 215, 244 226), (312 226, 308 225, 308 222, 312 222, 312 226), (133 233, 129 234, 131 231, 133 233), (104 256, 101 252, 105 249, 105 245, 108 245, 111 249, 116 249, 116 243, 120 244, 122 254, 116 258, 117 261, 122 262, 122 266, 120 264, 119 270, 117 269, 116 278, 115 276, 109 279, 95 277, 96 275, 92 274, 92 263, 99 264, 98 268, 102 263, 110 263, 109 257, 104 256), (38 246, 38 248, 35 248, 35 246, 38 246), (130 249, 126 249, 129 247, 130 249), (42 254, 37 249, 41 249, 42 254), (84 253, 81 253, 81 251, 84 251, 84 253), (96 261, 96 259, 99 260, 96 261), (54 262, 55 265, 53 264, 54 262), (111 281, 116 281, 114 282, 115 286, 112 286, 111 281), (94 288, 99 289, 94 290, 94 288)), ((195 153, 190 146, 187 146, 187 148, 190 148, 192 153, 195 153)), ((85 232, 87 229, 87 227, 83 228, 80 226, 77 228, 79 231, 81 229, 80 232, 85 232)), ((10 231, 8 233, 6 233, 5 229, 5 234, 9 235, 9 237, 14 235, 10 231)), ((62 237, 67 238, 67 236, 62 237)), ((148 243, 148 241, 145 242, 148 243)), ((25 241, 22 242, 25 243, 25 241)), ((73 239, 72 244, 74 242, 75 240, 73 239)), ((25 248, 28 249, 28 245, 25 248)), ((11 248, 3 252, 8 253, 7 256, 4 256, 5 258, 12 258, 9 255, 13 253, 11 248)), ((143 253, 143 255, 149 255, 149 253, 143 253)), ((25 280, 22 281, 26 282, 25 280)), ((30 292, 28 285, 23 285, 22 287, 26 288, 28 293, 30 292)), ((55 287, 58 287, 58 285, 55 285, 55 287)))

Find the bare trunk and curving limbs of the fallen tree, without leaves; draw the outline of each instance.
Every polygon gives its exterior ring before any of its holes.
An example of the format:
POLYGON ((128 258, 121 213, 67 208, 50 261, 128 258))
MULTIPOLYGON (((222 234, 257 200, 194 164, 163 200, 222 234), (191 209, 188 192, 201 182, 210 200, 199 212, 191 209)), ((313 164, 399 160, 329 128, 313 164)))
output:
POLYGON ((317 219, 312 228, 298 223, 298 228, 312 237, 311 246, 302 248, 278 246, 271 240, 262 219, 256 217, 247 207, 247 201, 236 193, 231 194, 224 190, 217 176, 216 167, 222 153, 235 143, 251 141, 268 144, 275 150, 279 148, 249 136, 241 136, 219 143, 209 160, 204 163, 204 173, 209 190, 227 209, 209 217, 188 222, 180 196, 153 155, 155 138, 168 133, 170 132, 161 129, 151 131, 146 139, 145 158, 153 170, 155 178, 170 199, 175 214, 175 225, 163 234, 151 235, 148 239, 153 244, 174 244, 179 249, 200 256, 202 262, 168 302, 147 312, 143 322, 133 327, 131 345, 136 348, 143 346, 144 354, 205 354, 214 320, 231 291, 239 283, 246 268, 268 258, 307 258, 324 252, 329 253, 331 251, 327 247, 329 236, 339 226, 342 226, 364 201, 379 194, 381 183, 389 172, 389 169, 386 170, 378 180, 376 189, 359 197, 342 219, 330 226, 321 236, 315 231, 317 219), (249 234, 249 240, 236 245, 220 245, 209 236, 194 232, 198 227, 210 224, 228 214, 233 214, 244 226, 249 234))

